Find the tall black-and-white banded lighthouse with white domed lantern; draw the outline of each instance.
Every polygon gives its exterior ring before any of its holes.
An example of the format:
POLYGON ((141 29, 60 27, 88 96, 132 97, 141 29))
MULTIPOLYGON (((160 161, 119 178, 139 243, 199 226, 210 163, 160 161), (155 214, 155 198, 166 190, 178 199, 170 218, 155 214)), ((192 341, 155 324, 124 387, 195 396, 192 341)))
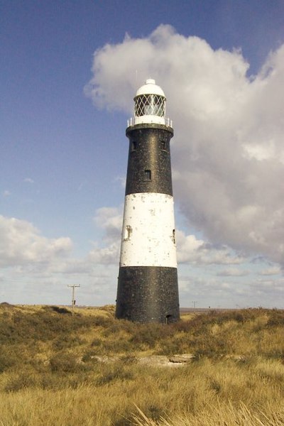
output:
POLYGON ((116 318, 180 319, 170 138, 165 94, 148 79, 134 97, 126 129, 129 160, 121 233, 116 318))

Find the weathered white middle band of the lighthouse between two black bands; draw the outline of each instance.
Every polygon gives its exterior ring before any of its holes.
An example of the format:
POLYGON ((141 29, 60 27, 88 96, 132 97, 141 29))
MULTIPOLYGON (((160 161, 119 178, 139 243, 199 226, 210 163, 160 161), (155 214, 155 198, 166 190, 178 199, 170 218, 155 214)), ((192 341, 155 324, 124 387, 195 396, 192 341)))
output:
POLYGON ((177 267, 172 196, 126 195, 120 265, 177 267))

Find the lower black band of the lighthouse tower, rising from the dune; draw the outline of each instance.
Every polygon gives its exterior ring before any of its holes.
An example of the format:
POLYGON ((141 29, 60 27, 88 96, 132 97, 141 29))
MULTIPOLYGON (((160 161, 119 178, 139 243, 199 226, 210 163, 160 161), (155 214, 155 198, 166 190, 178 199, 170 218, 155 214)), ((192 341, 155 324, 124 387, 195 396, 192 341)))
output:
POLYGON ((180 320, 177 268, 121 267, 116 318, 163 324, 180 320))

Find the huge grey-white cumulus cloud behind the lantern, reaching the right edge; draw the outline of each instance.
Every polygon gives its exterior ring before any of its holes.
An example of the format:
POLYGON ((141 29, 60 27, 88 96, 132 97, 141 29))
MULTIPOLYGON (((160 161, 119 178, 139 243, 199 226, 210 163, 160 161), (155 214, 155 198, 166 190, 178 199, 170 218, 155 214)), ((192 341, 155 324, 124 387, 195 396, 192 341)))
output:
POLYGON ((240 50, 213 50, 162 25, 97 50, 92 70, 85 91, 97 107, 132 114, 147 77, 165 90, 175 200, 187 223, 214 245, 283 264, 284 45, 252 78, 240 50))

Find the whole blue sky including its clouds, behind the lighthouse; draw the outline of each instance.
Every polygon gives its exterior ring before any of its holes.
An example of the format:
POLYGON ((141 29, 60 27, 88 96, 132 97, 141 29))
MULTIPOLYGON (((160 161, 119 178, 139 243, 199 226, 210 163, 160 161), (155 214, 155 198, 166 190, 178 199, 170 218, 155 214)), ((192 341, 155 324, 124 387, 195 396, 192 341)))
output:
POLYGON ((173 119, 180 305, 283 307, 283 1, 2 1, 0 300, 114 303, 133 95, 173 119))

